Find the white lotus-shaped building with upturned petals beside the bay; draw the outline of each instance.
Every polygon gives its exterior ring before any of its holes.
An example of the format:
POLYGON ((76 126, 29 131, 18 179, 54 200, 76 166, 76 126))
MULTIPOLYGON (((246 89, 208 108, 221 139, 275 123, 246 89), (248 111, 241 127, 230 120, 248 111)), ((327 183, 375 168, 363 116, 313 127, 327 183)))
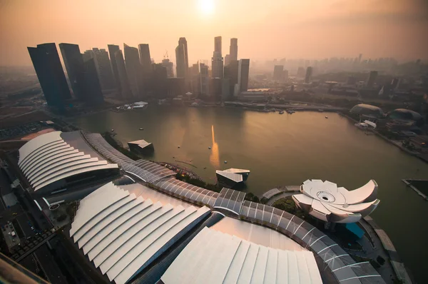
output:
POLYGON ((307 180, 300 186, 302 194, 292 196, 296 205, 310 215, 332 223, 355 223, 379 205, 377 183, 370 180, 354 191, 338 188, 336 183, 307 180))

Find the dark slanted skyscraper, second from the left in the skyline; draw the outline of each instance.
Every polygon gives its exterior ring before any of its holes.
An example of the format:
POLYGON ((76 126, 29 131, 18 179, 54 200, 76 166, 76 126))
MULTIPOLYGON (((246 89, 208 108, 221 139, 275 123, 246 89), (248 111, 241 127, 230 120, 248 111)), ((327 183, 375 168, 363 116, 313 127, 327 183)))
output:
POLYGON ((85 69, 80 49, 77 44, 59 44, 59 49, 63 56, 73 95, 84 101, 86 99, 85 69))

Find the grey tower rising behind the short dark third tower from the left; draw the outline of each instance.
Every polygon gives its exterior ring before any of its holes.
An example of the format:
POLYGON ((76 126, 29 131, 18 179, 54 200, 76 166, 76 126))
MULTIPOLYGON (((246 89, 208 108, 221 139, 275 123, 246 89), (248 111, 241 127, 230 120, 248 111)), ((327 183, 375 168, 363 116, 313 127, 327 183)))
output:
MULTIPOLYGON (((103 90, 111 90, 116 88, 116 83, 111 69, 110 59, 106 49, 93 48, 93 59, 95 61, 96 71, 103 90)), ((86 51, 85 51, 86 52, 86 51)), ((83 60, 85 60, 83 58, 83 60)))

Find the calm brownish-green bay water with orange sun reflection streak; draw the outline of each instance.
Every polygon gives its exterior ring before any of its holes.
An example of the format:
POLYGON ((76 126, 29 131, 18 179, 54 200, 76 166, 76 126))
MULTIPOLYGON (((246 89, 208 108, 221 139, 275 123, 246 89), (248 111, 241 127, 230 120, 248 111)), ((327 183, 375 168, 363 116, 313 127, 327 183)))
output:
POLYGON ((421 245, 428 235, 423 219, 428 204, 401 181, 427 178, 428 165, 367 135, 337 113, 149 106, 144 111, 94 113, 71 122, 92 132, 113 128, 124 146, 139 139, 152 142, 155 151, 148 159, 176 163, 212 183, 216 169, 249 169, 245 191, 258 196, 309 178, 333 181, 348 190, 374 179, 381 203, 372 217, 418 282, 428 280, 423 270, 428 248, 421 245))

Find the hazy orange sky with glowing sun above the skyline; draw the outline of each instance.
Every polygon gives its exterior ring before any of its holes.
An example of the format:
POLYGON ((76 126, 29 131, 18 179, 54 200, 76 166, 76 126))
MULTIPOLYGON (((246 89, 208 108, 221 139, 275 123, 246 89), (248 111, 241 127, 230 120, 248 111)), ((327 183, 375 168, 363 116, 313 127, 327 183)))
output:
POLYGON ((178 38, 190 64, 213 56, 214 36, 238 57, 330 56, 428 59, 428 0, 0 0, 0 65, 31 65, 26 46, 150 44, 175 62, 178 38))

